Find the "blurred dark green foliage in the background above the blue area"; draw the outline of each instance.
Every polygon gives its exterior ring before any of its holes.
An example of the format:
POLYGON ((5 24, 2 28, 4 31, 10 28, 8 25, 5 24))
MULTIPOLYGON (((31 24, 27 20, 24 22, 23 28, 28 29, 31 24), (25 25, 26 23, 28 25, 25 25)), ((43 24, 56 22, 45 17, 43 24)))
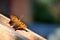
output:
POLYGON ((34 0, 33 21, 60 23, 60 0, 34 0))

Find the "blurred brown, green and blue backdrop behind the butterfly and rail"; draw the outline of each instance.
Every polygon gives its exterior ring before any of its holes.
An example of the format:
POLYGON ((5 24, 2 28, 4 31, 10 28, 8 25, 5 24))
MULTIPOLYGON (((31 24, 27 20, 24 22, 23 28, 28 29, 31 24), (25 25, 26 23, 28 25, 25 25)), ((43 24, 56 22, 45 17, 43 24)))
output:
POLYGON ((60 25, 60 0, 0 0, 0 12, 24 16, 28 28, 45 38, 60 25))

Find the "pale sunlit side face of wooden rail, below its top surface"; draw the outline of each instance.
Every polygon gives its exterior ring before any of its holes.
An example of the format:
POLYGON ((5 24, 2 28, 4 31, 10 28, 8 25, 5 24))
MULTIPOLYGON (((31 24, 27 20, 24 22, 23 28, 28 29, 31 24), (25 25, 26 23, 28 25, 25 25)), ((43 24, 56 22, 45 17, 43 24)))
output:
POLYGON ((15 30, 0 24, 0 40, 28 40, 28 39, 16 33, 15 30))

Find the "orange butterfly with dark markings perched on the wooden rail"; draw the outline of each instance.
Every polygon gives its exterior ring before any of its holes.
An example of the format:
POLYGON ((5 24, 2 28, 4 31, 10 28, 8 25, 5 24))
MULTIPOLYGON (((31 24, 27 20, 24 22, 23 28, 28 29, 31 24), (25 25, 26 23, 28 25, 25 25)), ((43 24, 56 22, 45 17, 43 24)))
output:
POLYGON ((13 28, 16 30, 25 30, 26 32, 28 32, 26 30, 27 26, 25 23, 23 23, 21 20, 19 20, 16 16, 11 15, 10 16, 11 21, 9 22, 10 25, 13 25, 13 28))

